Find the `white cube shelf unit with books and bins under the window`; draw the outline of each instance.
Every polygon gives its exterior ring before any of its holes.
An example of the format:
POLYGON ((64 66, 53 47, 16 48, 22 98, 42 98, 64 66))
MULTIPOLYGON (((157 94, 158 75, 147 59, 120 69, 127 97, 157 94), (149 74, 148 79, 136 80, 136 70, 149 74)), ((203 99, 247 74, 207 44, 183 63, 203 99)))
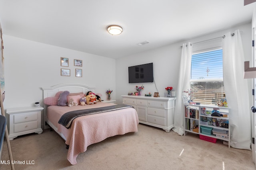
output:
POLYGON ((190 104, 184 104, 184 136, 187 133, 195 133, 198 135, 208 136, 215 139, 220 139, 222 141, 228 142, 228 148, 230 148, 230 125, 229 125, 229 115, 228 117, 218 117, 218 116, 211 116, 204 115, 201 113, 201 109, 205 108, 206 111, 212 113, 213 108, 218 108, 218 111, 222 114, 228 115, 228 107, 218 107, 214 105, 190 105, 190 104), (190 114, 190 109, 193 109, 195 111, 192 111, 192 114, 190 114), (194 116, 193 116, 193 112, 194 116), (192 123, 191 123, 192 122, 192 123), (193 124, 194 123, 194 124, 193 124), (198 127, 197 129, 193 129, 191 127, 198 127), (213 130, 223 130, 228 131, 228 135, 222 135, 223 137, 216 136, 213 133, 211 135, 203 134, 201 131, 201 126, 204 127, 212 127, 213 130))

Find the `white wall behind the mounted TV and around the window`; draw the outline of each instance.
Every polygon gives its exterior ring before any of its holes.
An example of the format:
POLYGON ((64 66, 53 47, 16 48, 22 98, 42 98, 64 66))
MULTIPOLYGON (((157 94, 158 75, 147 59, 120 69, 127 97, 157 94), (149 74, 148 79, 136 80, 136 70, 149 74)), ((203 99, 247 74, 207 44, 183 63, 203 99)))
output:
MULTIPOLYGON (((172 86, 173 90, 177 89, 178 72, 180 66, 180 56, 181 48, 183 43, 196 43, 208 39, 213 39, 216 37, 221 37, 227 32, 233 32, 239 29, 242 36, 242 43, 244 46, 245 61, 252 61, 252 29, 251 23, 246 23, 243 25, 238 25, 230 29, 217 31, 214 33, 209 33, 201 37, 195 37, 193 39, 188 39, 186 41, 181 41, 178 43, 173 43, 165 47, 154 49, 151 51, 146 51, 143 53, 138 53, 128 57, 123 57, 116 60, 116 100, 117 104, 122 103, 121 95, 126 95, 128 92, 135 92, 134 89, 136 85, 141 86, 142 83, 128 83, 128 66, 134 66, 139 64, 153 63, 154 66, 154 83, 143 83, 144 90, 142 94, 151 92, 159 92, 160 96, 164 96, 166 92, 165 88, 167 86, 172 86)), ((189 31, 189 30, 188 30, 189 31)), ((154 42, 151 42, 154 43, 154 42)), ((243 63, 242 63, 243 64, 243 63)), ((250 95, 252 94, 251 80, 248 79, 250 95)))

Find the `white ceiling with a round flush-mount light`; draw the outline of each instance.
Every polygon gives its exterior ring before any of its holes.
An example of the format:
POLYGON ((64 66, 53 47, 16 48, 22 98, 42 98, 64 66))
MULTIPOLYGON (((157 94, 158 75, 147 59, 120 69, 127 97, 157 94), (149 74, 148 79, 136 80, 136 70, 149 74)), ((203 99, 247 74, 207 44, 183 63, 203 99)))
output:
POLYGON ((252 20, 244 0, 0 0, 4 35, 110 58, 252 20), (123 27, 110 35, 106 27, 123 27), (150 43, 139 46, 138 43, 150 43))

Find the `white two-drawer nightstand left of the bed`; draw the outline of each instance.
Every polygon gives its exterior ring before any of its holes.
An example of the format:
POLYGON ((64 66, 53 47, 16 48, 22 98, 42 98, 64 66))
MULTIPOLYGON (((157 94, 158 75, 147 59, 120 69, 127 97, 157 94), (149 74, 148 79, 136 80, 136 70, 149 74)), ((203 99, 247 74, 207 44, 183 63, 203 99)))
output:
POLYGON ((6 109, 10 115, 9 140, 28 133, 42 133, 41 106, 19 107, 6 109))

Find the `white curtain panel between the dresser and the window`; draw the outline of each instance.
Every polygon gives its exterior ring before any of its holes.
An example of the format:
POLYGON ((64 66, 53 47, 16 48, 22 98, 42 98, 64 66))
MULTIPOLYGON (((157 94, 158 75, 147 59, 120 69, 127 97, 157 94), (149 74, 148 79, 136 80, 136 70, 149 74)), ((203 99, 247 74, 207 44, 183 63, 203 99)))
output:
POLYGON ((179 135, 184 133, 184 101, 182 92, 190 87, 190 68, 191 68, 192 46, 191 43, 182 45, 182 54, 180 59, 180 72, 178 88, 176 90, 174 128, 172 130, 179 135))

